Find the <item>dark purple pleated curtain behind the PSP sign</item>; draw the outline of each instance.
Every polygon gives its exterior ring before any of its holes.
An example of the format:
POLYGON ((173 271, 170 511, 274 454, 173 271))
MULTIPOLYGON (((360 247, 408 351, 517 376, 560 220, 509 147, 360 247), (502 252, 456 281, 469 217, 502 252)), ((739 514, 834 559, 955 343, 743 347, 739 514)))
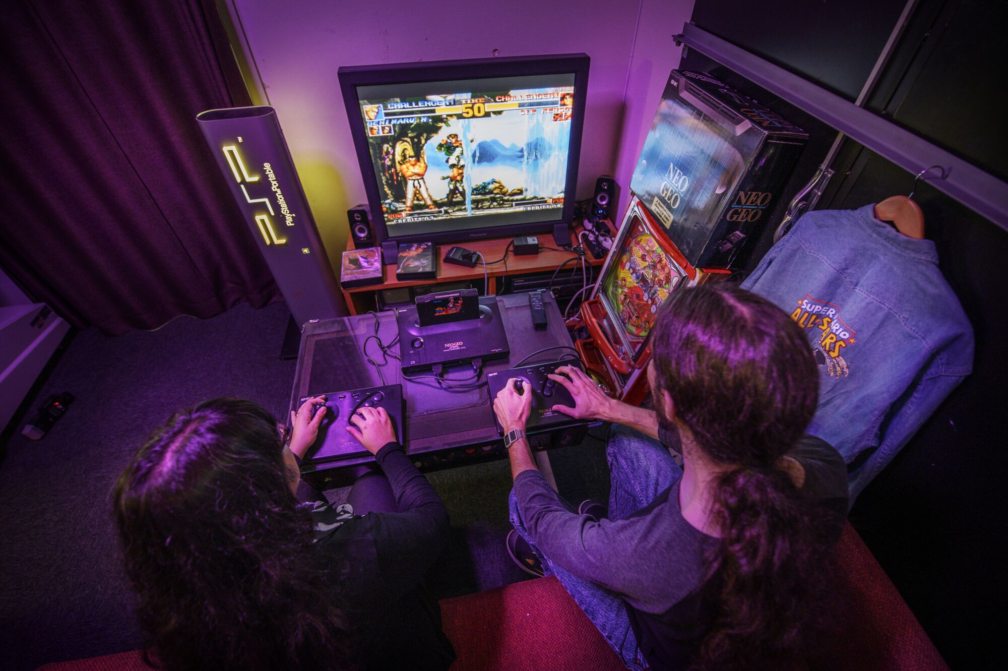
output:
POLYGON ((279 299, 196 122, 249 104, 213 0, 3 13, 0 266, 112 334, 279 299))

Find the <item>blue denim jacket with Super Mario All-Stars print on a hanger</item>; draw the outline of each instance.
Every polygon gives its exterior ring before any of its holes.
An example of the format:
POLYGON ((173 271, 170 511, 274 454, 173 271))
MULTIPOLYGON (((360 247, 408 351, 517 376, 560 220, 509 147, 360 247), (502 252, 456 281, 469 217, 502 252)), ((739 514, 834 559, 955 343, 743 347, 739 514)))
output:
POLYGON ((852 503, 973 368, 973 327, 934 243, 873 208, 804 215, 742 284, 808 333, 820 370, 808 433, 844 456, 852 503))

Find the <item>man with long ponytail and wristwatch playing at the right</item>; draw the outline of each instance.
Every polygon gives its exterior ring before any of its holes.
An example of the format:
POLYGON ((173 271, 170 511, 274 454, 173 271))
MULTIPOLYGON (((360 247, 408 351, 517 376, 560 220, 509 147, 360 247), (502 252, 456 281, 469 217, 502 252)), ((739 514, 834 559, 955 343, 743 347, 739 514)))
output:
MULTIPOLYGON (((763 298, 704 285, 669 295, 651 350, 656 411, 576 368, 550 376, 576 403, 555 410, 614 422, 608 511, 560 499, 519 439, 508 549, 555 574, 629 669, 801 668, 848 501, 840 454, 803 435, 808 344, 763 298)), ((505 431, 530 402, 513 381, 498 394, 505 431)))

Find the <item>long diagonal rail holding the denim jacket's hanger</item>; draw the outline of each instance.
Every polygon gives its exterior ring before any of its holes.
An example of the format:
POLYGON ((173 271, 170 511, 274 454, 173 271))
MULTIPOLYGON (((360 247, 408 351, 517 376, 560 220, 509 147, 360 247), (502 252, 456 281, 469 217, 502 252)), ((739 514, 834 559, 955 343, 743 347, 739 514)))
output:
POLYGON ((1008 183, 1003 180, 692 23, 683 25, 682 32, 673 39, 676 44, 685 44, 731 69, 911 174, 921 174, 928 166, 940 167, 944 176, 929 179, 928 183, 1008 231, 1008 183))

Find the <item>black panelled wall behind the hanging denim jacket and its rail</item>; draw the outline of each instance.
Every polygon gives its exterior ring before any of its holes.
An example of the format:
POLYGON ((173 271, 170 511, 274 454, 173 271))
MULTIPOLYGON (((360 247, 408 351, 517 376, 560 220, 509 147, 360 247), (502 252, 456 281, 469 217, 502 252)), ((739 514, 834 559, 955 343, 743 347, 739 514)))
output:
MULTIPOLYGON (((733 3, 734 4, 734 3, 733 3)), ((739 5, 698 0, 702 28, 854 100, 904 2, 778 0, 739 5)), ((975 165, 1008 178, 1008 131, 999 100, 1006 80, 1000 32, 1008 4, 921 0, 868 108, 975 165)), ((685 70, 716 72, 809 131, 787 188, 797 191, 836 132, 688 50, 685 70)), ((852 209, 909 193, 913 175, 846 141, 818 209, 852 209)), ((927 166, 921 166, 924 168, 927 166)), ((786 199, 789 199, 787 195, 786 199)), ((851 519, 953 668, 1000 668, 1005 571, 1002 474, 1008 450, 1000 414, 1008 406, 1004 371, 1008 310, 1001 268, 1008 232, 923 183, 914 199, 936 243, 941 270, 973 322, 977 350, 968 378, 903 451, 861 495, 851 519)), ((779 221, 779 214, 774 213, 779 221)), ((770 244, 767 237, 750 266, 770 244)), ((894 281, 896 278, 894 278, 894 281)))

